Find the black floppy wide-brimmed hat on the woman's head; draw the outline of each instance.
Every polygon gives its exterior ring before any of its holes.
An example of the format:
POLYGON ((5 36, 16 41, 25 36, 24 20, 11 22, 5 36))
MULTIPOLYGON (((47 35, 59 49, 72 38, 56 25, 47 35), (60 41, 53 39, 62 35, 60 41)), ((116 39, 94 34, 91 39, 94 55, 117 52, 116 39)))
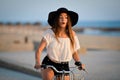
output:
POLYGON ((74 11, 69 11, 66 8, 59 8, 59 9, 57 9, 57 11, 50 12, 49 15, 48 15, 48 23, 49 23, 49 25, 53 26, 55 18, 60 13, 63 13, 63 12, 67 13, 70 16, 72 26, 76 25, 76 23, 78 22, 78 14, 76 12, 74 12, 74 11))

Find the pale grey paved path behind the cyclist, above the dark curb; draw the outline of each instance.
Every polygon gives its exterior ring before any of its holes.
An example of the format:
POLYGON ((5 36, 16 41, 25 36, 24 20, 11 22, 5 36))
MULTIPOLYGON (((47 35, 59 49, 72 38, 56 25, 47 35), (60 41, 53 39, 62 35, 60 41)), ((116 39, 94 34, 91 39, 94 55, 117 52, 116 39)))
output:
MULTIPOLYGON (((33 68, 35 64, 34 55, 34 51, 0 52, 0 66, 8 66, 13 70, 34 76, 37 75, 38 77, 40 75, 33 68)), ((42 59, 44 56, 45 52, 42 54, 42 59)), ((86 64, 89 72, 86 75, 86 80, 120 80, 120 51, 89 50, 85 55, 81 55, 80 57, 81 61, 86 64)), ((73 61, 71 61, 71 65, 73 65, 72 63, 73 61)))

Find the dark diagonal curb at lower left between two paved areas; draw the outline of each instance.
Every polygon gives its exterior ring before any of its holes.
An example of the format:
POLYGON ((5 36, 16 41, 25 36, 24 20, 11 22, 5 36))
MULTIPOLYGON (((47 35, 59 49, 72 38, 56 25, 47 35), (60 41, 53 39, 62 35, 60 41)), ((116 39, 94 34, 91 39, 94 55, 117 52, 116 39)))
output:
POLYGON ((6 61, 0 60, 0 67, 6 68, 6 69, 11 69, 14 71, 18 71, 18 72, 22 72, 31 76, 35 76, 35 77, 39 77, 41 78, 40 72, 36 72, 32 69, 26 68, 26 67, 22 67, 22 66, 18 66, 16 64, 13 63, 8 63, 6 61))

